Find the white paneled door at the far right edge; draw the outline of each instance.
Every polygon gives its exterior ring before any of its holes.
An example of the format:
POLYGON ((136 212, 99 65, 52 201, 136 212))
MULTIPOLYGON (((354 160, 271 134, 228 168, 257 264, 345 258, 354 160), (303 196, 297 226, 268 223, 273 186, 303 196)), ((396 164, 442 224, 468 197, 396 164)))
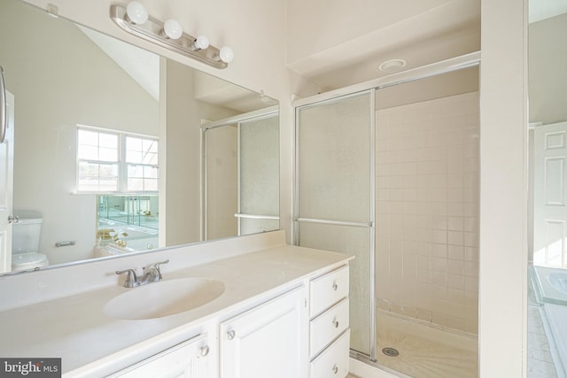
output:
POLYGON ((533 264, 567 268, 567 122, 533 132, 533 264))

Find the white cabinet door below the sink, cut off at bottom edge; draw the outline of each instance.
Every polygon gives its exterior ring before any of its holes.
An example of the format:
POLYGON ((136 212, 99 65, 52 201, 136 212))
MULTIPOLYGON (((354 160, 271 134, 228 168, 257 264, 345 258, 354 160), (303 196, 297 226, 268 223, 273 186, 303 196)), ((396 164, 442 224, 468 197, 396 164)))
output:
POLYGON ((206 335, 162 351, 111 377, 120 378, 212 378, 209 369, 209 345, 206 335))

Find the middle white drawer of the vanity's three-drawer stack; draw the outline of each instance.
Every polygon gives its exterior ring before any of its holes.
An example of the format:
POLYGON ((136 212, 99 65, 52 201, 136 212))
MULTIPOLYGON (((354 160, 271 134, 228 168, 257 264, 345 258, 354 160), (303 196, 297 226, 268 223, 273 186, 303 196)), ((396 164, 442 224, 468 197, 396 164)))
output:
POLYGON ((343 299, 311 320, 309 328, 309 355, 311 357, 322 351, 331 341, 348 328, 348 298, 343 299))

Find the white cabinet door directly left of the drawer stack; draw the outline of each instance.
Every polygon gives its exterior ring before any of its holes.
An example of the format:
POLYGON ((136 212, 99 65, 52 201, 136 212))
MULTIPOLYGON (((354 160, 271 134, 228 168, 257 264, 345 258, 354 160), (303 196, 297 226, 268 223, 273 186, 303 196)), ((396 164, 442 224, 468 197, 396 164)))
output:
POLYGON ((307 377, 305 289, 221 323, 221 378, 307 377))

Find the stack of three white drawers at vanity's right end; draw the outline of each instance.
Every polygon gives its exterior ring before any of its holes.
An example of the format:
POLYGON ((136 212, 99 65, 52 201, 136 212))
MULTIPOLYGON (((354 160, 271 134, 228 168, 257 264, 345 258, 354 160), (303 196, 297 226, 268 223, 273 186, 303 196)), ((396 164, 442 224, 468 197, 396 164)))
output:
POLYGON ((348 266, 341 266, 309 283, 310 378, 344 378, 348 374, 348 293, 348 266))

